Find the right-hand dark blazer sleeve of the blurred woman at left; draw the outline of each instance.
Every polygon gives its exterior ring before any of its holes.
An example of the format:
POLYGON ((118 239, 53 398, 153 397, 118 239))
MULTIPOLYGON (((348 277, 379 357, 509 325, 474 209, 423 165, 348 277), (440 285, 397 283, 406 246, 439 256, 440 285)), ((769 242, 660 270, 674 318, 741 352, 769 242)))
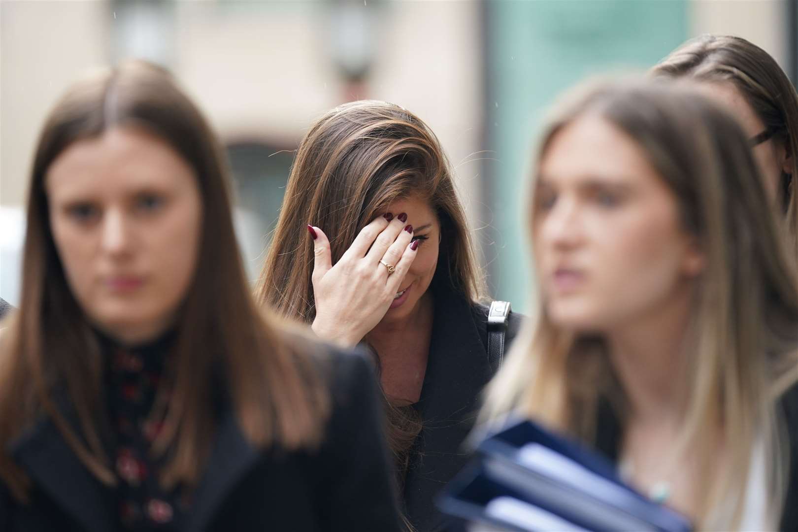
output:
POLYGON ((400 530, 377 376, 361 354, 334 358, 333 411, 320 466, 322 521, 326 530, 400 530))

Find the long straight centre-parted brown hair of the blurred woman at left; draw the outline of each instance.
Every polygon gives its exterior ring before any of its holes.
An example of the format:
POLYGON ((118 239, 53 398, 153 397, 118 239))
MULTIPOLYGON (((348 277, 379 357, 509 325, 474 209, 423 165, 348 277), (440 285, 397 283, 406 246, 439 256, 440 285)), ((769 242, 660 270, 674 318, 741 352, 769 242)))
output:
MULTIPOLYGON (((176 323, 172 399, 155 448, 169 450, 162 481, 192 487, 207 458, 219 384, 247 439, 259 447, 314 446, 329 399, 297 341, 279 335, 254 302, 231 222, 223 157, 199 110, 167 72, 133 61, 73 85, 50 112, 38 140, 27 205, 22 298, 2 339, 0 449, 43 414, 89 471, 115 483, 101 444, 105 364, 65 279, 50 228, 45 178, 79 140, 118 127, 146 128, 195 172, 203 203, 196 272, 176 323), (79 420, 57 406, 63 390, 79 420)), ((25 501, 24 471, 0 451, 0 477, 25 501)))

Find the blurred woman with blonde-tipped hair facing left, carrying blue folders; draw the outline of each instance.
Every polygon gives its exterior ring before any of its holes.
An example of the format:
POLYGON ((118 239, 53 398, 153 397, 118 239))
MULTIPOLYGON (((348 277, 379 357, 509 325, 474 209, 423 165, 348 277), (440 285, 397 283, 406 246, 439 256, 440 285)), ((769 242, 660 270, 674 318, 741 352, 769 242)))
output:
POLYGON ((697 89, 591 86, 532 188, 540 306, 488 418, 583 440, 697 530, 796 530, 798 282, 737 120, 697 89))

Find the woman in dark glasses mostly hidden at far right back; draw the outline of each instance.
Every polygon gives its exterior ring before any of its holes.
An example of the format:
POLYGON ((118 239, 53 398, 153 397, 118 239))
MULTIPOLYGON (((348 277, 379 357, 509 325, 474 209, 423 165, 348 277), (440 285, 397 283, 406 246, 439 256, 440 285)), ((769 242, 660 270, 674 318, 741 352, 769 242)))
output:
POLYGON ((702 35, 675 49, 651 73, 701 81, 707 96, 740 120, 768 199, 784 215, 798 256, 798 93, 776 60, 742 37, 702 35))

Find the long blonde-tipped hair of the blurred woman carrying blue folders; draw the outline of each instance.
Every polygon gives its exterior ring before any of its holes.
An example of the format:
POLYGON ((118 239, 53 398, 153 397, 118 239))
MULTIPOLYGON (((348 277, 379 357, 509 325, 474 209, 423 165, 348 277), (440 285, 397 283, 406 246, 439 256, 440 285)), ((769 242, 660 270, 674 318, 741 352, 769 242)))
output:
MULTIPOLYGON (((725 110, 684 85, 605 81, 569 93, 543 129, 535 173, 558 132, 580 117, 599 116, 638 144, 673 192, 682 227, 706 257, 689 328, 687 407, 674 456, 687 448, 698 453, 697 529, 736 530, 760 443, 775 515, 784 501, 788 457, 776 400, 798 380, 798 280, 744 132, 725 110), (721 443, 729 454, 717 463, 721 443)), ((626 397, 605 341, 559 328, 539 301, 535 319, 488 387, 482 416, 497 423, 515 412, 592 443, 605 400, 623 424, 626 397)))

